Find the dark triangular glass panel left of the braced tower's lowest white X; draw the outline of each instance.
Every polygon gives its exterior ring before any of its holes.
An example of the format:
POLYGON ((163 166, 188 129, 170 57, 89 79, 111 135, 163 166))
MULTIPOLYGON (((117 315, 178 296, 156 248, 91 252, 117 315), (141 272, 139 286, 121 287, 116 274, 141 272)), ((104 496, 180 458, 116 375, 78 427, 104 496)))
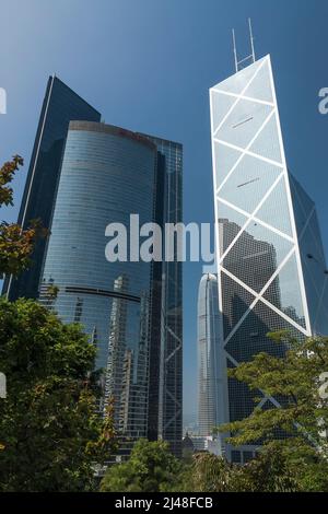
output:
POLYGON ((221 284, 222 291, 224 291, 222 295, 222 312, 224 313, 224 339, 226 339, 232 329, 250 307, 255 296, 224 272, 221 273, 221 284))

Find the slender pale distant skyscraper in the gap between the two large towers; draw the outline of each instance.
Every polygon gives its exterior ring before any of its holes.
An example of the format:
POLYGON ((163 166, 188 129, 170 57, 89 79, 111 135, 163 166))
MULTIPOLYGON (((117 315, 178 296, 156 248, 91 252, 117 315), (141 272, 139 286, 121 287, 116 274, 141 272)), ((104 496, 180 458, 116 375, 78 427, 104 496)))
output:
POLYGON ((198 429, 208 436, 220 421, 220 313, 218 279, 203 274, 198 292, 198 429))

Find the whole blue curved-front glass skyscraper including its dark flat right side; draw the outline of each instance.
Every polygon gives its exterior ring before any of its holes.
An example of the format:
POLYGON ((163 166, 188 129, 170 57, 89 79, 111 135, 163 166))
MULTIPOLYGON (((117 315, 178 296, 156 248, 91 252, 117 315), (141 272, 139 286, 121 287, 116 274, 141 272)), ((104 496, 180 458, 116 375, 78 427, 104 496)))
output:
MULTIPOLYGON (((109 223, 180 221, 181 145, 91 121, 72 121, 62 159, 40 301, 79 322, 105 370, 104 396, 126 439, 181 445, 181 273, 178 262, 108 262, 109 223), (172 198, 175 205, 172 205, 172 198), (168 267, 171 265, 171 267, 168 267), (58 295, 49 305, 47 288, 58 295)), ((137 244, 137 242, 136 242, 137 244)), ((137 259, 130 259, 130 252, 137 259)))

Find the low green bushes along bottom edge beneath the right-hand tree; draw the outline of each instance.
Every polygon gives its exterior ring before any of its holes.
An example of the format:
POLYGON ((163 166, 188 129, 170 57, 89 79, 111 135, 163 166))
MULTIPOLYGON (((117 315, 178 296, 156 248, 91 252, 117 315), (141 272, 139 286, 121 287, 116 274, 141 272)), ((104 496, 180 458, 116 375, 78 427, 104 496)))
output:
POLYGON ((328 463, 303 445, 276 441, 244 466, 198 454, 185 490, 195 492, 305 492, 328 490, 328 463))

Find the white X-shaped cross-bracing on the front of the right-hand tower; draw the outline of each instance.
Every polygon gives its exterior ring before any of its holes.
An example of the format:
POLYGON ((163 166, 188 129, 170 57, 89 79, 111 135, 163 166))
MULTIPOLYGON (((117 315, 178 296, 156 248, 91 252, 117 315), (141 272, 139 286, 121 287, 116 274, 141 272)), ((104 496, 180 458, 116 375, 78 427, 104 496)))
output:
MULTIPOLYGON (((239 73, 243 73, 241 71, 239 73)), ((223 89, 220 87, 220 84, 218 84, 215 87, 211 89, 210 91, 210 104, 211 104, 211 128, 212 128, 212 159, 213 159, 213 180, 214 180, 214 191, 215 191, 215 235, 216 235, 216 255, 219 256, 218 259, 218 271, 219 276, 221 273, 225 273, 229 276, 232 280, 234 280, 236 283, 238 283, 242 288, 244 288, 246 291, 253 294, 254 301, 249 305, 248 309, 244 313, 244 315, 241 317, 238 323, 233 327, 232 331, 229 334, 229 337, 224 340, 224 346, 229 342, 229 340, 233 337, 233 335, 238 330, 241 325, 244 323, 248 314, 254 309, 255 305, 260 301, 265 305, 267 305, 269 308, 271 308, 273 312, 276 312, 281 318, 283 318, 286 323, 295 327, 301 334, 304 336, 311 336, 311 323, 309 323, 309 315, 308 315, 308 307, 307 307, 307 300, 306 300, 306 293, 305 293, 305 284, 304 284, 304 278, 303 278, 303 270, 302 270, 302 264, 301 264, 301 255, 300 255, 300 247, 298 247, 298 240, 297 240, 297 232, 296 232, 296 225, 295 225, 295 219, 294 219, 294 211, 293 211, 293 205, 292 205, 292 198, 291 198, 291 191, 290 191, 290 184, 289 184, 289 174, 288 174, 288 168, 286 168, 286 162, 285 162, 285 155, 284 155, 284 147, 283 147, 283 141, 282 141, 282 133, 281 133, 281 127, 280 127, 280 119, 279 119, 279 112, 278 112, 278 106, 277 106, 277 97, 276 97, 276 90, 274 90, 274 83, 273 83, 273 77, 272 77, 272 69, 271 69, 271 61, 270 57, 267 56, 258 66, 255 70, 255 73, 247 80, 246 85, 244 86, 243 91, 241 93, 235 93, 235 92, 229 92, 224 91, 223 89), (246 92, 249 89, 250 84, 254 83, 256 80, 259 71, 265 67, 268 67, 268 79, 269 79, 269 84, 270 84, 270 96, 273 98, 273 102, 266 102, 260 98, 256 98, 254 96, 249 96, 246 92), (235 98, 235 102, 231 105, 231 107, 227 109, 226 114, 223 116, 223 118, 220 120, 218 126, 214 126, 214 110, 213 110, 213 98, 215 98, 215 102, 218 102, 218 96, 219 95, 225 95, 225 97, 230 96, 232 98, 235 98), (250 142, 245 145, 245 148, 242 148, 238 144, 235 144, 234 142, 231 141, 225 141, 222 137, 219 137, 219 131, 220 129, 224 126, 225 121, 229 119, 231 114, 238 108, 238 104, 241 101, 249 101, 251 103, 258 103, 262 105, 267 105, 269 107, 272 107, 272 109, 269 112, 268 116, 266 119, 262 121, 261 126, 256 130, 254 133, 250 142), (281 155, 281 162, 274 161, 272 159, 268 159, 266 155, 261 155, 259 150, 257 149, 257 152, 253 152, 251 148, 254 143, 257 141, 259 136, 263 132, 265 128, 267 127, 268 122, 272 119, 274 116, 274 121, 276 121, 276 137, 278 137, 279 141, 279 150, 280 150, 280 155, 281 155), (225 174, 225 177, 220 182, 220 184, 216 184, 216 177, 220 176, 220 162, 216 164, 215 160, 215 154, 214 154, 214 148, 215 143, 219 143, 221 145, 225 145, 227 148, 231 148, 233 150, 236 150, 239 152, 239 156, 237 161, 233 164, 230 171, 225 174), (223 188, 224 185, 229 184, 230 178, 234 173, 237 173, 238 166, 242 163, 243 159, 249 155, 254 159, 257 159, 259 161, 266 162, 272 166, 277 166, 277 168, 281 170, 281 173, 278 175, 273 184, 268 187, 268 190, 263 194, 261 200, 259 203, 256 206, 256 208, 253 210, 253 212, 247 212, 246 210, 242 209, 241 207, 235 206, 231 201, 224 198, 224 196, 220 192, 223 188), (216 165, 219 170, 216 170, 216 165), (288 207, 289 207, 289 217, 290 217, 290 222, 291 222, 291 227, 292 227, 292 236, 284 233, 283 231, 272 226, 270 222, 265 222, 261 221, 260 217, 257 214, 259 213, 261 207, 265 205, 267 199, 270 197, 272 191, 274 191, 276 187, 280 183, 280 180, 283 180, 284 184, 284 191, 286 196, 286 201, 288 201, 288 207), (219 223, 219 206, 225 205, 230 209, 235 210, 243 217, 245 217, 245 223, 241 227, 241 231, 238 234, 235 236, 235 238, 231 242, 229 247, 226 249, 220 248, 220 237, 219 237, 219 232, 220 232, 220 223, 219 223), (247 284, 245 284, 242 280, 239 280, 235 274, 226 270, 223 266, 223 261, 225 257, 229 255, 229 253, 232 250, 238 238, 242 236, 242 234, 247 230, 251 221, 255 221, 256 223, 261 224, 269 231, 276 233, 280 237, 288 240, 290 243, 292 243, 292 248, 288 252, 288 255, 284 257, 284 259, 280 262, 278 266, 276 272, 272 274, 270 280, 266 283, 263 289, 257 293, 251 290, 247 284), (283 269, 283 267, 290 261, 290 259, 294 258, 296 259, 296 266, 297 266, 297 274, 298 274, 298 280, 300 280, 300 289, 301 289, 301 296, 302 296, 302 306, 303 306, 303 313, 304 313, 304 318, 305 318, 305 326, 298 325, 294 319, 290 318, 284 312, 280 311, 278 307, 272 305, 267 299, 263 297, 265 292, 268 290, 270 284, 273 282, 273 280, 279 276, 280 271, 283 269)), ((216 125, 216 124, 215 124, 216 125)), ((273 220, 272 220, 273 221, 273 220)), ((222 294, 222 292, 221 292, 222 294)), ((223 293, 224 294, 224 293, 223 293)), ((222 311, 222 297, 220 299, 220 307, 222 311)), ((226 350, 225 350, 226 351, 226 350)), ((231 355, 227 357, 232 359, 231 355)))

